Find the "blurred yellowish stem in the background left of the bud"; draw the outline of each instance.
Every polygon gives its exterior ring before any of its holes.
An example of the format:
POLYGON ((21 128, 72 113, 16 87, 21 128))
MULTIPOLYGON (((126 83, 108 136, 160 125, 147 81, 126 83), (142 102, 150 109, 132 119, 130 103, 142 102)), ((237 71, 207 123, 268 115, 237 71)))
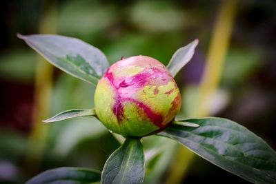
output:
MULTIPOLYGON (((46 5, 39 25, 40 33, 55 33, 57 5, 51 1, 46 5)), ((26 170, 28 174, 36 174, 45 150, 48 126, 42 123, 50 109, 53 67, 41 56, 37 55, 37 69, 34 81, 34 110, 32 127, 29 134, 29 152, 26 154, 26 170)))

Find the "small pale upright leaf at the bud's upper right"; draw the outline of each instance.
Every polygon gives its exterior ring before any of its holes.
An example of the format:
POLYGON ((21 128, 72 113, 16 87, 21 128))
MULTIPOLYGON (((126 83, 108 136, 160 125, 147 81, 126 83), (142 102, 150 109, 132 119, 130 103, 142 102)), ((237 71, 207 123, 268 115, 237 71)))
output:
POLYGON ((190 59, 192 59, 195 53, 195 47, 198 44, 198 39, 189 43, 183 48, 179 48, 175 54, 172 55, 172 59, 167 65, 168 70, 172 76, 175 76, 181 68, 186 65, 190 59))

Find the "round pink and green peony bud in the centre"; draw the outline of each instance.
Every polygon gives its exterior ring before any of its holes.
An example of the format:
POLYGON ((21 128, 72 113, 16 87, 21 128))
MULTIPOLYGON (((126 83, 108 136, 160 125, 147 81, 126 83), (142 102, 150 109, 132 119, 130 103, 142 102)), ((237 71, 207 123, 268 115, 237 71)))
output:
POLYGON ((172 75, 150 57, 130 57, 111 65, 95 91, 99 120, 123 136, 145 136, 163 129, 180 106, 172 75))

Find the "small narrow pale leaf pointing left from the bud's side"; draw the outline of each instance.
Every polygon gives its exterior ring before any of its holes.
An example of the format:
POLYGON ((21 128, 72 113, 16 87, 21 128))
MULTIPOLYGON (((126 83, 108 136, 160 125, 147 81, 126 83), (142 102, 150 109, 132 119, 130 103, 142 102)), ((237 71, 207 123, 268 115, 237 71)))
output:
POLYGON ((43 122, 50 123, 50 122, 61 121, 65 119, 72 119, 72 118, 81 117, 81 116, 95 116, 95 110, 81 110, 81 109, 66 110, 66 111, 60 112, 55 116, 52 116, 52 118, 50 119, 43 120, 43 122))

